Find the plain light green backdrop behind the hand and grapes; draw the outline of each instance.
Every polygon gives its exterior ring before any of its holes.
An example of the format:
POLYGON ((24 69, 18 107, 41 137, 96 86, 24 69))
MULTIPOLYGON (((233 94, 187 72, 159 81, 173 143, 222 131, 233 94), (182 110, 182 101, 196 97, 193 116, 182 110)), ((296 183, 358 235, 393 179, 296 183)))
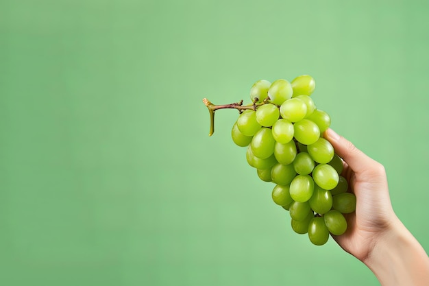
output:
MULTIPOLYGON (((378 285, 293 233, 230 139, 310 74, 429 250, 428 1, 0 0, 1 285, 378 285)), ((387 261, 387 263, 389 263, 387 261)))

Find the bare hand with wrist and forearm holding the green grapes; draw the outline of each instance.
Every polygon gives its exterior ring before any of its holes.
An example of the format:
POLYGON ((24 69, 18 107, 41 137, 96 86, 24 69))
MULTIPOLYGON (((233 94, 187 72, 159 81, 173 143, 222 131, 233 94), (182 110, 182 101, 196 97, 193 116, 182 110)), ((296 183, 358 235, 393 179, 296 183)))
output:
POLYGON ((344 160, 343 176, 356 195, 356 213, 335 241, 365 263, 383 286, 429 285, 429 257, 395 215, 383 165, 328 129, 323 136, 344 160))

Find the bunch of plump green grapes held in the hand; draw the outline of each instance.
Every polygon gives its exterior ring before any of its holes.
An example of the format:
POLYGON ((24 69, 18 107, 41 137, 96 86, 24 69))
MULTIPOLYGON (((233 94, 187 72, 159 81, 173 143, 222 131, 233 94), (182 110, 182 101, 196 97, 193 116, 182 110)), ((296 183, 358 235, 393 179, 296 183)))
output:
POLYGON ((293 230, 321 246, 330 233, 345 233, 343 214, 355 211, 356 196, 340 175, 343 160, 322 136, 331 120, 316 108, 314 90, 310 75, 259 80, 250 90, 252 108, 232 127, 232 140, 247 146, 247 163, 259 178, 275 184, 273 201, 289 211, 293 230))

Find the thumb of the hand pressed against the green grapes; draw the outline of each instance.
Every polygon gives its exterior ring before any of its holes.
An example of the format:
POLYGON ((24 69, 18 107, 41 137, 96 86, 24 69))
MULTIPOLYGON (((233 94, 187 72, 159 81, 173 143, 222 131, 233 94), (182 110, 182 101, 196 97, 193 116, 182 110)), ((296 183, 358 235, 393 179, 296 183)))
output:
POLYGON ((376 163, 376 161, 358 150, 352 142, 348 141, 343 136, 336 134, 332 129, 326 130, 324 138, 332 144, 335 153, 343 158, 345 163, 347 163, 355 173, 367 171, 374 163, 376 163))

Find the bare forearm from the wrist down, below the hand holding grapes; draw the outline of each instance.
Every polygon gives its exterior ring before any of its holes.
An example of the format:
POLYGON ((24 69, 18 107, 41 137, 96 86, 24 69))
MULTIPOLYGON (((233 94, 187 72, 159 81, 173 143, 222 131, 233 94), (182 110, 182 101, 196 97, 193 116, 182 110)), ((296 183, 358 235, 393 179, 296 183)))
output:
POLYGON ((399 220, 376 241, 363 263, 382 286, 429 285, 429 257, 399 220))

